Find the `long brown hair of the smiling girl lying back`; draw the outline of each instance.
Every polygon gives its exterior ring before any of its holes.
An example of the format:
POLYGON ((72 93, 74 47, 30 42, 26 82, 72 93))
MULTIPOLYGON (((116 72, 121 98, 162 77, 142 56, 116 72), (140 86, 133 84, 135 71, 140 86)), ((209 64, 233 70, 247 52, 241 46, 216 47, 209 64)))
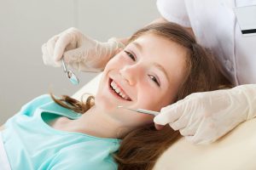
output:
MULTIPOLYGON (((176 42, 187 50, 187 75, 178 89, 177 100, 195 92, 230 87, 230 82, 218 71, 217 61, 214 61, 212 54, 202 48, 195 41, 195 37, 182 26, 174 23, 149 25, 135 32, 129 42, 148 33, 176 42)), ((92 98, 90 97, 90 99, 92 98)), ((90 108, 89 100, 87 100, 86 106, 86 103, 83 104, 83 102, 68 96, 61 100, 55 99, 55 102, 81 113, 90 108), (68 105, 64 104, 63 101, 67 102, 68 105)), ((173 131, 171 127, 166 126, 158 131, 152 123, 128 133, 122 139, 119 151, 113 157, 119 165, 119 170, 152 169, 160 155, 180 137, 178 131, 173 131)))

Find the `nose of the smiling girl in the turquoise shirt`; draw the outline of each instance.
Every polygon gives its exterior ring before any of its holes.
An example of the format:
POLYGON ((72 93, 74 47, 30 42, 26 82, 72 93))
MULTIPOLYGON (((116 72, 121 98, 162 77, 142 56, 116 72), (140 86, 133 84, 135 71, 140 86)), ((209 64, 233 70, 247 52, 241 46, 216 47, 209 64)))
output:
POLYGON ((137 79, 142 74, 142 71, 136 65, 125 65, 120 69, 120 75, 127 81, 131 86, 134 86, 137 82, 137 79))

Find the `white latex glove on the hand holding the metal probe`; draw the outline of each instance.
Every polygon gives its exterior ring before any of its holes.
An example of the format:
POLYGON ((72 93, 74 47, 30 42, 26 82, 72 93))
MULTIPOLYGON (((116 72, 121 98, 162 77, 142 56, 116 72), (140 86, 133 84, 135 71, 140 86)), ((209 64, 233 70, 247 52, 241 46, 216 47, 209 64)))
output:
POLYGON ((190 94, 162 108, 154 117, 169 125, 194 144, 209 144, 239 123, 256 116, 256 84, 212 92, 190 94))

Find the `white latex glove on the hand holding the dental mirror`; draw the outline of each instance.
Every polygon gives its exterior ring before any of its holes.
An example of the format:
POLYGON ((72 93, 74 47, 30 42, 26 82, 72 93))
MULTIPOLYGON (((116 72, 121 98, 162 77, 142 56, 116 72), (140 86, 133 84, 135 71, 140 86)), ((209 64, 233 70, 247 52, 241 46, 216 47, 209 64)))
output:
POLYGON ((69 28, 44 43, 42 52, 45 65, 61 66, 64 56, 67 65, 79 71, 102 71, 116 51, 124 47, 114 37, 98 42, 76 28, 69 28))

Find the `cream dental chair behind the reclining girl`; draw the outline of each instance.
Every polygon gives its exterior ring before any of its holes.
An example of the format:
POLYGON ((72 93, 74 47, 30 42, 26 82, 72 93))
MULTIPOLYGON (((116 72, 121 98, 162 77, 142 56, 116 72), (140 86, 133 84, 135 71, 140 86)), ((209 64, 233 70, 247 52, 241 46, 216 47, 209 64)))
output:
MULTIPOLYGON (((96 94, 102 74, 73 94, 96 94)), ((158 159, 154 170, 256 170, 256 118, 242 122, 213 144, 190 144, 184 138, 172 144, 158 159)))

